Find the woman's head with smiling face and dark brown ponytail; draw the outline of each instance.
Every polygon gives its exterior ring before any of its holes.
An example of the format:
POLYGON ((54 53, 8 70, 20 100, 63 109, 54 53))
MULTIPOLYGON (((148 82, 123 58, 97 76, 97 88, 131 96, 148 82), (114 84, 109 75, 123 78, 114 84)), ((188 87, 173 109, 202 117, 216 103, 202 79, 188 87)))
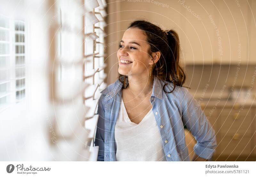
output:
POLYGON ((186 75, 179 65, 178 34, 173 30, 163 31, 147 21, 137 20, 130 24, 120 41, 117 58, 121 66, 125 61, 133 62, 131 65, 124 65, 127 67, 119 66, 119 80, 124 75, 132 77, 152 74, 164 81, 173 82, 174 88, 176 85, 182 86, 186 80, 186 75))

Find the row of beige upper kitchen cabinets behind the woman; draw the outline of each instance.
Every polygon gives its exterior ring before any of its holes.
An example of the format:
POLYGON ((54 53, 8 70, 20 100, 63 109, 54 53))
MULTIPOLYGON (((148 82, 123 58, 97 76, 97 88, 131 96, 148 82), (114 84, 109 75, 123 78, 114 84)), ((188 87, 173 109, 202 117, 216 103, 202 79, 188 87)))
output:
POLYGON ((256 2, 186 0, 182 9, 184 63, 256 64, 256 2), (197 3, 197 4, 196 4, 197 3), (190 9, 190 10, 188 10, 190 9), (254 15, 254 18, 252 16, 254 15), (197 14, 201 19, 196 18, 197 14))

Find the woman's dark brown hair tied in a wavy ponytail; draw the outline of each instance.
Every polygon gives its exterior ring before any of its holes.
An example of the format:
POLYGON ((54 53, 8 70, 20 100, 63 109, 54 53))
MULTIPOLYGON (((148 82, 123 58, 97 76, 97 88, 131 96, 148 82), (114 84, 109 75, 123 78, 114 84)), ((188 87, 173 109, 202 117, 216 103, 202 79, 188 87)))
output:
MULTIPOLYGON (((148 54, 151 57, 153 52, 160 51, 161 53, 159 60, 152 67, 152 77, 155 75, 161 80, 171 81, 174 84, 172 91, 176 85, 182 86, 186 80, 186 75, 179 65, 180 40, 178 34, 174 30, 163 31, 160 27, 146 20, 133 21, 128 28, 131 27, 137 27, 146 33, 147 42, 150 45, 148 54)), ((118 79, 120 80, 122 76, 124 75, 119 74, 118 79)), ((124 83, 123 88, 126 85, 125 81, 126 75, 124 81, 121 81, 124 83)), ((172 91, 166 92, 164 90, 166 93, 171 93, 172 91)))

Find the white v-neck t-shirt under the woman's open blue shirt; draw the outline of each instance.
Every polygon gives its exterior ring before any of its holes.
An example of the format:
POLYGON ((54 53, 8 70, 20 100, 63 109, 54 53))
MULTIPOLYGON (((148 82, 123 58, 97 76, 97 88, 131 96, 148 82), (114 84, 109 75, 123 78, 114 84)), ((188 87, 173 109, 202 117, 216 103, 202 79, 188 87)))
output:
POLYGON ((166 161, 152 108, 136 124, 129 119, 122 98, 114 133, 116 161, 166 161))

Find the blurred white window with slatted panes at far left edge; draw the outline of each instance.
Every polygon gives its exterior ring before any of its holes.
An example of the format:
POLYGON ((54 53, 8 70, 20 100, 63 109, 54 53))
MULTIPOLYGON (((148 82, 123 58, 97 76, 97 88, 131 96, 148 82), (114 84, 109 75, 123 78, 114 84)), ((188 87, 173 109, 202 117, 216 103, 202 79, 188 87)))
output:
POLYGON ((0 15, 0 111, 25 98, 25 23, 0 15))

